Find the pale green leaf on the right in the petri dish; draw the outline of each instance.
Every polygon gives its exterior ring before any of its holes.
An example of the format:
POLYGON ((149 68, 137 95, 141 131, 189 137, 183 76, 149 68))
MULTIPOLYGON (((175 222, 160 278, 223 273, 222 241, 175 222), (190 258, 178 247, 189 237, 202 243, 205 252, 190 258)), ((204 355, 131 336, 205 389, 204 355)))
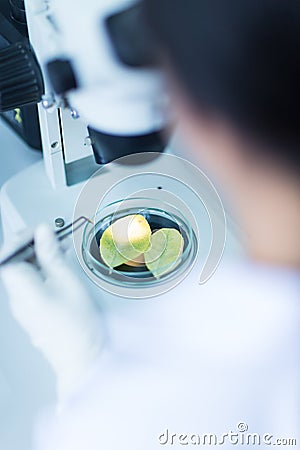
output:
POLYGON ((145 263, 155 278, 166 275, 180 263, 184 240, 179 231, 161 228, 152 234, 150 244, 145 253, 145 263))

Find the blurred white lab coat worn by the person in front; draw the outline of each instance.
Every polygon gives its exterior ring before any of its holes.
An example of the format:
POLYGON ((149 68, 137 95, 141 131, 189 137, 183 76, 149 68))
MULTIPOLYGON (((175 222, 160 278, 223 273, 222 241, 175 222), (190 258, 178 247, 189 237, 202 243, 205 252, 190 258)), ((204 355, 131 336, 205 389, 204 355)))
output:
POLYGON ((223 264, 204 286, 195 273, 161 298, 124 300, 93 374, 39 421, 35 449, 199 448, 205 433, 242 440, 239 423, 300 448, 299 285, 297 272, 223 264))

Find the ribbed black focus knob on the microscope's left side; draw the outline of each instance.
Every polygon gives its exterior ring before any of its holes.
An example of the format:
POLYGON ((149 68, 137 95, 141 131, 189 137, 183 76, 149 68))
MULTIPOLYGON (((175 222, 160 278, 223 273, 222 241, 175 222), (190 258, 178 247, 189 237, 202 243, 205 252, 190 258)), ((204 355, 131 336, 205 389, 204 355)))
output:
POLYGON ((44 93, 40 66, 26 43, 0 50, 0 112, 38 103, 44 93))

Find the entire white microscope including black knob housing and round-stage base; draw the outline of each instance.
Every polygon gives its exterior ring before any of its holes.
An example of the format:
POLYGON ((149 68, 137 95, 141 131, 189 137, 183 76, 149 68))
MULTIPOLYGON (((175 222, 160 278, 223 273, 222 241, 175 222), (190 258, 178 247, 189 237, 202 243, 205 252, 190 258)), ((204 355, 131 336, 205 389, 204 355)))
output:
MULTIPOLYGON (((166 149, 167 103, 141 3, 2 0, 0 113, 43 152, 2 187, 5 241, 40 222, 57 228, 94 217, 100 198, 104 207, 151 198, 183 214, 192 242, 186 264, 199 260, 207 281, 223 254, 226 217, 207 177, 166 149)), ((77 257, 97 283, 82 241, 75 242, 77 257)), ((103 283, 109 291, 107 277, 103 283)), ((114 293, 124 292, 115 286, 114 293)))

